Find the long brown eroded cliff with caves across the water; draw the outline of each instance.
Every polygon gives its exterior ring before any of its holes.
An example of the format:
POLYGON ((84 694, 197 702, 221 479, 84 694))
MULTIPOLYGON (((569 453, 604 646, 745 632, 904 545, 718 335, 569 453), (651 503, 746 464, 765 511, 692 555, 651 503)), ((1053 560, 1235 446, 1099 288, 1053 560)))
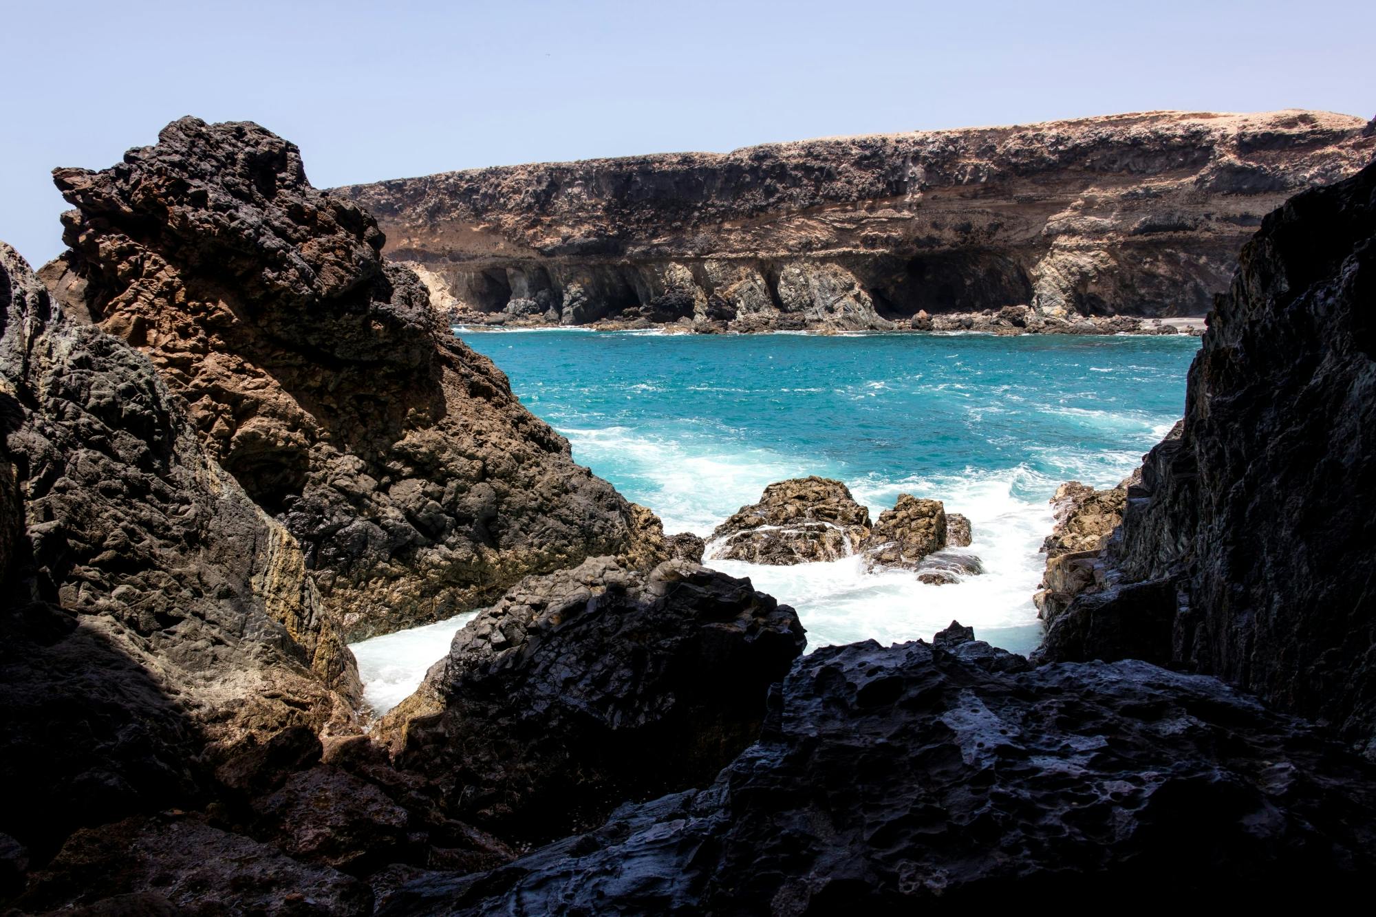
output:
POLYGON ((1365 128, 1320 112, 1152 112, 337 193, 377 215, 385 251, 461 318, 930 328, 1029 304, 1032 330, 1058 329, 1204 314, 1265 213, 1370 160, 1365 128))

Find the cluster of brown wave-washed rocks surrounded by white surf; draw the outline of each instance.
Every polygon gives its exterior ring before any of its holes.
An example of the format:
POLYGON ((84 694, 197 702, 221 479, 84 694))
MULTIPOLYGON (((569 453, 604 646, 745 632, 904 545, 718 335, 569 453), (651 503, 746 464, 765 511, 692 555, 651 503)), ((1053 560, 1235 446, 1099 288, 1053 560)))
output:
POLYGON ((900 493, 892 509, 870 522, 870 509, 850 489, 830 478, 791 478, 765 487, 758 503, 742 507, 713 530, 710 556, 787 566, 839 560, 864 554, 872 567, 916 570, 933 585, 984 571, 980 559, 948 551, 970 544, 970 520, 945 512, 940 500, 900 493), (948 520, 955 520, 948 534, 948 520))

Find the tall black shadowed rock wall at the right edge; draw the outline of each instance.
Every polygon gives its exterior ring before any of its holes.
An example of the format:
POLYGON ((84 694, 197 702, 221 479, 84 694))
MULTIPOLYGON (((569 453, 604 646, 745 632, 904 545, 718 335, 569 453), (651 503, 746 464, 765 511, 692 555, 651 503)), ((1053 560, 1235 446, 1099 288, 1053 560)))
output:
POLYGON ((1043 658, 1154 653, 1332 724, 1376 755, 1376 165, 1299 194, 1243 251, 1190 366, 1183 425, 1128 490, 1108 589, 1043 658), (1134 585, 1123 585, 1134 584, 1134 585))

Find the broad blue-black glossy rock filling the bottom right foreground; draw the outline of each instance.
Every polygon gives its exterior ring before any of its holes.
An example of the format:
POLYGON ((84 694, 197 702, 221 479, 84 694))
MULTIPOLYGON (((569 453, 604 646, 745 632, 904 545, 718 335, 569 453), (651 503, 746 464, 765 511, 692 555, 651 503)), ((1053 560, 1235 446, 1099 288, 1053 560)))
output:
POLYGON ((1137 661, 1026 669, 959 625, 930 647, 823 647, 710 788, 625 805, 495 872, 418 877, 380 913, 1238 905, 1365 888, 1370 764, 1212 677, 1137 661))

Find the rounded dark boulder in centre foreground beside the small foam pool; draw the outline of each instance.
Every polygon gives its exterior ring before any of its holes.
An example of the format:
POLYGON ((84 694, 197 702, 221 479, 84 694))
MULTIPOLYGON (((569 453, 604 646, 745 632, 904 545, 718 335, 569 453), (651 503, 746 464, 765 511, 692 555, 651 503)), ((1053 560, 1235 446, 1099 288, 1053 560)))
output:
POLYGON ((749 580, 592 559, 479 614, 381 732, 453 814, 548 840, 711 779, 802 646, 793 609, 749 580))

